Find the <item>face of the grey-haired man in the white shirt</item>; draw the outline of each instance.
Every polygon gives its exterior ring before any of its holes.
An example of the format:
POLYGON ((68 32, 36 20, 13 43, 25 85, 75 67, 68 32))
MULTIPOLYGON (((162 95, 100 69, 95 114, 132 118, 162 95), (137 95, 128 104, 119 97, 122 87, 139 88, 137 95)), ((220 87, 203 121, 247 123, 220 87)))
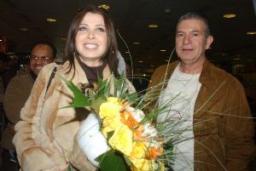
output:
POLYGON ((195 64, 205 59, 205 51, 213 38, 206 37, 206 26, 202 20, 182 20, 177 25, 176 52, 184 64, 195 64))

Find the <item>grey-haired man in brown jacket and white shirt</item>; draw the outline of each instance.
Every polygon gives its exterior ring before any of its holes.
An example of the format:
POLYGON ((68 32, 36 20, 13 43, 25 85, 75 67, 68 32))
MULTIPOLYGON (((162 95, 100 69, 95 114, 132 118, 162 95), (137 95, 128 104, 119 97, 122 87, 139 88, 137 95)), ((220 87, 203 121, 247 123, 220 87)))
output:
POLYGON ((253 122, 244 89, 207 60, 212 41, 204 16, 184 14, 176 30, 179 60, 157 68, 148 85, 160 87, 158 105, 171 104, 158 123, 179 120, 173 170, 247 170, 252 156, 253 122))

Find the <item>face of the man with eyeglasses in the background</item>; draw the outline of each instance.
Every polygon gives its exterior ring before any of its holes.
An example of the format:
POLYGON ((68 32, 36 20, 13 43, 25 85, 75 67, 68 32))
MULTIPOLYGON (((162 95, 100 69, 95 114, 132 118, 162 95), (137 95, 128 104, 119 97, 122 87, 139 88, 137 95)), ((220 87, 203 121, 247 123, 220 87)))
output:
POLYGON ((54 61, 52 49, 46 44, 38 44, 32 49, 29 68, 34 74, 38 75, 43 66, 54 61), (48 59, 48 60, 47 60, 48 59))

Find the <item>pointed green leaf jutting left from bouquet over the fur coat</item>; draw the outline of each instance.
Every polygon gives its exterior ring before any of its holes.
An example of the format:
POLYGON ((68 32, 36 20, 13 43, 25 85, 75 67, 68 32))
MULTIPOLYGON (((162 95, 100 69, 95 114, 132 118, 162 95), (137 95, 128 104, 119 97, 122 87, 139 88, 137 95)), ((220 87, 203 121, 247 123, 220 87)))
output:
POLYGON ((84 107, 91 105, 91 101, 71 81, 67 81, 64 77, 61 77, 61 80, 67 84, 67 87, 73 92, 74 96, 73 104, 68 105, 67 107, 84 107))

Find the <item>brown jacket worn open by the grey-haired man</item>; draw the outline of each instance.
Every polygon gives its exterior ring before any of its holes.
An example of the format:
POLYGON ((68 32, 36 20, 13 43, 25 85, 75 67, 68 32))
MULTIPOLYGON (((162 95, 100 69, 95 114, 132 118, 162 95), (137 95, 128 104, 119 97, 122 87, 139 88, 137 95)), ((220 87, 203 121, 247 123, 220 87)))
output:
MULTIPOLYGON (((148 88, 163 83, 165 76, 168 83, 177 64, 170 64, 167 70, 167 66, 157 68, 148 88)), ((207 60, 199 81, 194 114, 195 170, 247 170, 253 155, 253 121, 248 118, 252 115, 241 83, 207 60)))

